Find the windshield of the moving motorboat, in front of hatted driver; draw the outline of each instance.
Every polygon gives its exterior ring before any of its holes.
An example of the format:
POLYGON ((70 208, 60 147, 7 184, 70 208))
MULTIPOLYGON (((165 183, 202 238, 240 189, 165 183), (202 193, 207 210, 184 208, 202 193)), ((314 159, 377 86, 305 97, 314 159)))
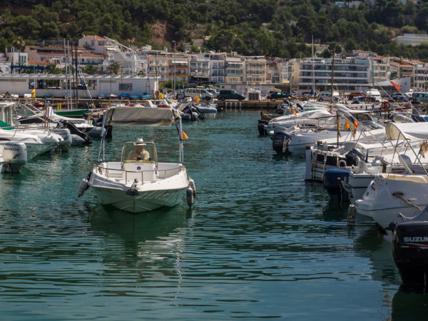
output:
POLYGON ((122 148, 122 163, 158 163, 155 143, 128 142, 122 148))

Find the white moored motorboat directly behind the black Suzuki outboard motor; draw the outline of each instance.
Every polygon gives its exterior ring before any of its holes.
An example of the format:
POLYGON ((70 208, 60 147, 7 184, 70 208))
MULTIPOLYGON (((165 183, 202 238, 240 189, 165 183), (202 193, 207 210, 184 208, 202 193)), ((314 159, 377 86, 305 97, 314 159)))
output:
MULTIPOLYGON (((400 221, 401 215, 413 217, 428 205, 427 161, 422 159, 424 148, 419 152, 409 143, 412 136, 422 136, 427 144, 427 123, 388 123, 388 138, 396 140, 395 151, 405 173, 379 173, 367 187, 362 199, 355 200, 355 209, 361 215, 373 218, 382 228, 400 221), (411 126, 409 126, 411 125, 411 126), (412 133, 412 136, 409 135, 412 133), (400 150, 412 151, 400 154, 400 150)), ((417 145, 419 147, 419 144, 417 145)), ((422 145, 423 146, 423 145, 422 145)))

